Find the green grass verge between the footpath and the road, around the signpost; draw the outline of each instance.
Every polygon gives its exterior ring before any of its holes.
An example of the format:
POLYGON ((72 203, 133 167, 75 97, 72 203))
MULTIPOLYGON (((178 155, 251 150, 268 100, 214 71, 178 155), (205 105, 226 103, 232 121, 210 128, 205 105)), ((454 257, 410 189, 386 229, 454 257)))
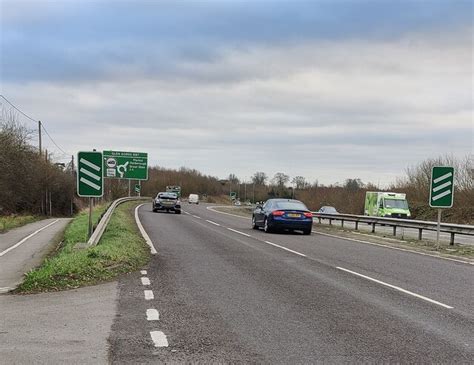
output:
MULTIPOLYGON (((83 250, 74 248, 76 243, 84 242, 87 235, 87 214, 79 214, 67 227, 59 252, 29 272, 17 291, 58 291, 93 285, 146 265, 149 248, 133 218, 133 208, 137 204, 120 205, 99 244, 83 250)), ((100 210, 94 214, 98 216, 100 210)))

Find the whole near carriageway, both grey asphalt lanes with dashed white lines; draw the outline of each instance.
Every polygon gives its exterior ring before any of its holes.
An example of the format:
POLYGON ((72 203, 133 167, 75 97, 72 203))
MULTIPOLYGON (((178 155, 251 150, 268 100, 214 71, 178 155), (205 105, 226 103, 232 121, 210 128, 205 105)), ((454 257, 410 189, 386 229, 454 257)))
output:
POLYGON ((184 208, 139 210, 158 254, 119 281, 112 363, 474 362, 473 265, 184 208))

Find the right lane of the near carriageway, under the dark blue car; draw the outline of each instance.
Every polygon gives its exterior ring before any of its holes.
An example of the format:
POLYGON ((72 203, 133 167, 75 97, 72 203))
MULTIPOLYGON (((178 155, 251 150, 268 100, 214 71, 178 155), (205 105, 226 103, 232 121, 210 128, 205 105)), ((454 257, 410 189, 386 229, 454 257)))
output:
MULTIPOLYGON (((299 233, 268 234, 252 230, 250 219, 216 213, 204 209, 204 206, 190 208, 190 211, 198 212, 224 227, 241 230, 252 234, 256 239, 271 241, 334 267, 354 270, 438 300, 474 318, 474 265, 314 233, 311 236, 299 233)), ((317 227, 315 229, 317 231, 317 227)))

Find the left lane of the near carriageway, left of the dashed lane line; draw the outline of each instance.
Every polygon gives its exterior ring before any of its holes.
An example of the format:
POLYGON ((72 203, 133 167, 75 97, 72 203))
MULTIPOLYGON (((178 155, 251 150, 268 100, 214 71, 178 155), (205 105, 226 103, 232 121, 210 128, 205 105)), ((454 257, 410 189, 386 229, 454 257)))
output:
POLYGON ((154 299, 140 297, 138 275, 121 280, 113 363, 474 359, 472 318, 193 214, 202 219, 140 209, 158 250, 147 268, 154 299), (150 304, 159 328, 143 315, 150 304), (151 331, 162 331, 169 347, 155 348, 151 331))

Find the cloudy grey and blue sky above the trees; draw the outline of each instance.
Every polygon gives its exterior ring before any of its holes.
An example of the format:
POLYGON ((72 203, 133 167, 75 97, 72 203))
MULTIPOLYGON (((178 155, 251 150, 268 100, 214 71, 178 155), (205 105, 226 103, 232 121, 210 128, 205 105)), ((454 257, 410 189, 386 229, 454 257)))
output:
POLYGON ((0 3, 1 94, 68 154, 384 186, 473 153, 469 0, 0 3))

